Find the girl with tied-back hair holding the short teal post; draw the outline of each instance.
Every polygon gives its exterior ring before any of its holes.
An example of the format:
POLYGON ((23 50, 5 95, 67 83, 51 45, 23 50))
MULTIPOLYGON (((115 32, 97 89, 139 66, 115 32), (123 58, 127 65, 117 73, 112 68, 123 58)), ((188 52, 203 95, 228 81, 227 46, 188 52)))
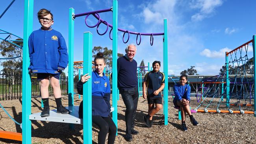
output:
MULTIPOLYGON (((108 144, 114 144, 117 127, 110 116, 110 84, 108 77, 103 73, 106 63, 102 53, 97 54, 94 65, 95 71, 92 72, 92 76, 85 74, 76 84, 78 94, 83 94, 83 84, 92 77, 92 122, 100 129, 98 144, 105 144, 108 131, 108 144)), ((78 113, 79 118, 83 118, 83 101, 78 113)))

